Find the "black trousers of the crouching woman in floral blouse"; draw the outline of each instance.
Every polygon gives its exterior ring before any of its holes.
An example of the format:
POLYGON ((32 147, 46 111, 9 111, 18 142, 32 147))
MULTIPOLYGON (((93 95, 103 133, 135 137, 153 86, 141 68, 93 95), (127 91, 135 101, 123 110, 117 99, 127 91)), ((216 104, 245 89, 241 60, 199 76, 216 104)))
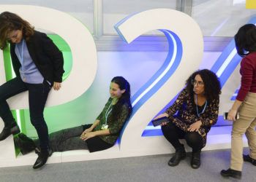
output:
POLYGON ((178 139, 185 139, 194 153, 201 151, 203 148, 203 138, 198 132, 184 132, 172 122, 168 122, 165 126, 162 126, 161 129, 167 141, 169 141, 175 149, 182 147, 178 139))

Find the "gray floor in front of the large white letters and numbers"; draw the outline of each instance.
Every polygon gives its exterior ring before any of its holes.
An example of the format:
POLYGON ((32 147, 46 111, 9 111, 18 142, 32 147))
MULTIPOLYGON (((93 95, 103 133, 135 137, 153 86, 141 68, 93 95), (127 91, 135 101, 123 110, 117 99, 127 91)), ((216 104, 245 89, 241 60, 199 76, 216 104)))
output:
MULTIPOLYGON (((219 175, 229 166, 230 150, 203 151, 197 170, 190 167, 190 156, 176 167, 167 165, 170 154, 49 164, 39 170, 6 167, 0 168, 0 181, 236 181, 219 175)), ((241 181, 256 181, 255 173, 256 167, 245 162, 241 181)))

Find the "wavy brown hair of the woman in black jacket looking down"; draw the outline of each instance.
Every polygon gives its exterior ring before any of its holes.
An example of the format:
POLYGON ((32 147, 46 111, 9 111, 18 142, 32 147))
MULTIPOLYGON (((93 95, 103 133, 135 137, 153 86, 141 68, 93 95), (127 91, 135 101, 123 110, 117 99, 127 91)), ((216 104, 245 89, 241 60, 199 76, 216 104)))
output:
POLYGON ((4 50, 9 42, 8 34, 11 31, 20 30, 26 41, 34 34, 34 27, 29 22, 23 20, 12 12, 2 12, 0 14, 0 49, 4 50))

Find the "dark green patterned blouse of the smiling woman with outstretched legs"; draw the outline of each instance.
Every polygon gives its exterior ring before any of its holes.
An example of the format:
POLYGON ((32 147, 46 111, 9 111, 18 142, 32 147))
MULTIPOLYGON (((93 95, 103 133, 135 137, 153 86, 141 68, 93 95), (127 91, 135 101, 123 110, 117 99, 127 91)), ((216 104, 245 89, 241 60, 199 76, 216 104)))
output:
MULTIPOLYGON (((113 98, 108 99, 108 103, 105 104, 105 107, 103 108, 102 112, 99 114, 99 116, 97 116, 97 119, 99 119, 99 124, 94 128, 93 131, 102 130, 102 124, 105 124, 105 117, 106 115, 108 115, 107 111, 110 111, 111 108, 113 108, 112 100, 113 98)), ((107 143, 114 144, 118 138, 121 128, 124 126, 124 123, 126 122, 129 116, 129 106, 127 104, 121 106, 121 111, 118 114, 116 120, 111 119, 110 114, 108 115, 107 120, 110 135, 101 135, 99 136, 99 138, 101 138, 103 141, 107 143)))

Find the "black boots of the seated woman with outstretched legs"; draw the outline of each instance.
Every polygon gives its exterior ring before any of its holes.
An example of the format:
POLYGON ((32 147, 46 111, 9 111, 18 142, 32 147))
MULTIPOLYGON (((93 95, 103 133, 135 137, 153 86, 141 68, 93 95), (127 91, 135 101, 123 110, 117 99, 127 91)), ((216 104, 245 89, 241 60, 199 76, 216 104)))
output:
POLYGON ((15 146, 17 146, 20 149, 21 154, 25 155, 28 154, 31 151, 34 151, 36 149, 36 145, 34 141, 27 137, 22 132, 14 138, 15 146))

